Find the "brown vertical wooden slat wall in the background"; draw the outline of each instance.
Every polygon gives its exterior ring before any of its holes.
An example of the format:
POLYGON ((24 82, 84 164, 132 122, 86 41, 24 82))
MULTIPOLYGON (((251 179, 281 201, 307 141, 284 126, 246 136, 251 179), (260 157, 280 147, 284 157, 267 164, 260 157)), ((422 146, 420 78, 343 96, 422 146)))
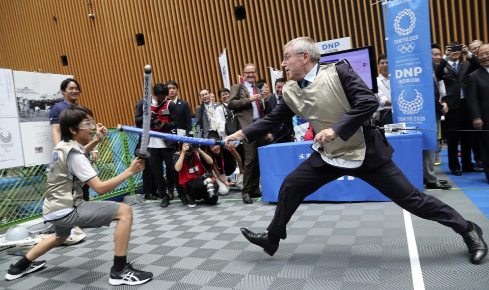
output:
MULTIPOLYGON (((231 83, 250 62, 269 81, 266 67, 280 68, 282 46, 299 36, 318 42, 349 36, 352 47, 374 45, 377 55, 385 52, 382 7, 371 6, 374 0, 87 2, 0 1, 0 68, 74 75, 83 90, 80 103, 111 127, 133 125, 145 64, 153 66, 153 84, 176 80, 179 96, 195 111, 200 89, 223 86, 218 57, 225 47, 231 83), (242 21, 234 17, 238 5, 246 8, 242 21)), ((433 0, 430 9, 433 42, 488 42, 485 0, 433 0)))

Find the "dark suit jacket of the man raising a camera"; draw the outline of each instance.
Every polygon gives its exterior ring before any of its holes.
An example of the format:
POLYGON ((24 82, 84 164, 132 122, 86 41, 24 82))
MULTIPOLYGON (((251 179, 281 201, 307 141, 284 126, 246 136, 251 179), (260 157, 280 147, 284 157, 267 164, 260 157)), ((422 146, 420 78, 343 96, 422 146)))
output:
POLYGON ((460 105, 460 88, 464 89, 464 92, 466 91, 467 75, 479 66, 480 64, 477 57, 472 56, 467 62, 458 62, 458 73, 455 73, 455 69, 444 59, 442 59, 440 64, 434 69, 437 78, 443 80, 445 83, 447 95, 443 97, 443 100, 447 103, 449 109, 458 108, 460 105))

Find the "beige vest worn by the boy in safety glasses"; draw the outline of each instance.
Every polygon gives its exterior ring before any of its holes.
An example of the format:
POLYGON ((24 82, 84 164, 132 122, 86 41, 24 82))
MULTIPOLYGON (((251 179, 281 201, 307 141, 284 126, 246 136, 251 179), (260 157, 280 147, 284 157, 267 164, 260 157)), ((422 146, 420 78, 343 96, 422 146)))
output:
POLYGON ((78 142, 73 140, 56 146, 52 152, 51 165, 47 175, 46 197, 42 207, 43 214, 71 209, 83 201, 82 187, 85 183, 80 182, 77 178, 71 180, 68 177, 66 162, 70 151, 84 154, 80 150, 78 142))

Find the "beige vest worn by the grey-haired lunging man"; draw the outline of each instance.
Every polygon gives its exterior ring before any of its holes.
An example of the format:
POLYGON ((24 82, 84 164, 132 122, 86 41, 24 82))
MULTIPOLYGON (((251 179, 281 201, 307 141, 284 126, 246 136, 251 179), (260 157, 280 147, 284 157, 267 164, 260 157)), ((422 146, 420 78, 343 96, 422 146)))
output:
MULTIPOLYGON (((333 128, 342 115, 351 109, 341 85, 335 64, 319 66, 316 79, 301 89, 297 81, 283 87, 284 101, 302 119, 308 120, 314 132, 333 128)), ((365 142, 359 128, 349 139, 336 138, 318 151, 327 158, 364 160, 365 142)))

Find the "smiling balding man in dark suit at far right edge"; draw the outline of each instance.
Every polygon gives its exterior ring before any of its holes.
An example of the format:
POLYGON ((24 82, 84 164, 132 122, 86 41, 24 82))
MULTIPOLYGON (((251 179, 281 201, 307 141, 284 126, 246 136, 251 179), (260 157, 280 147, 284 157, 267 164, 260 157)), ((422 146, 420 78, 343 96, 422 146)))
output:
MULTIPOLYGON (((477 130, 489 130, 489 44, 482 44, 478 51, 481 66, 467 77, 467 105, 470 119, 477 130)), ((485 177, 489 181, 489 133, 479 134, 479 148, 485 177)))

